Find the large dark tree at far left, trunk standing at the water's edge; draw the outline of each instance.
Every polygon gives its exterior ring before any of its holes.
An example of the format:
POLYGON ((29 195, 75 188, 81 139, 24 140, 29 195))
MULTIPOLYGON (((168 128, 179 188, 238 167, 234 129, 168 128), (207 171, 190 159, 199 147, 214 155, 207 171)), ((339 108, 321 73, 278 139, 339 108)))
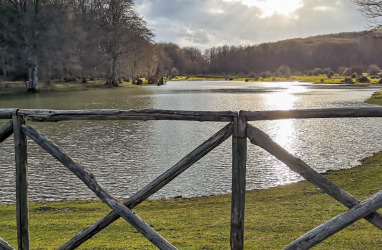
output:
POLYGON ((58 58, 63 57, 56 52, 67 51, 63 49, 67 48, 64 44, 73 40, 67 36, 73 33, 67 26, 70 20, 67 8, 73 3, 70 0, 3 0, 0 3, 0 51, 1 48, 7 51, 5 56, 1 54, 2 64, 5 71, 13 71, 15 78, 28 80, 28 90, 37 90, 41 64, 45 63, 45 71, 50 72, 53 64, 59 64, 58 58))

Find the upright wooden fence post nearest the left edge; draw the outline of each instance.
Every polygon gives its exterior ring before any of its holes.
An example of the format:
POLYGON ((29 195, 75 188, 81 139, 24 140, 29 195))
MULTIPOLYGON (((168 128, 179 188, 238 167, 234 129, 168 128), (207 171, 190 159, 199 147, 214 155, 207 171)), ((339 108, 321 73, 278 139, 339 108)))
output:
POLYGON ((27 140, 21 126, 25 123, 17 111, 12 116, 16 161, 16 220, 18 249, 29 249, 27 140))

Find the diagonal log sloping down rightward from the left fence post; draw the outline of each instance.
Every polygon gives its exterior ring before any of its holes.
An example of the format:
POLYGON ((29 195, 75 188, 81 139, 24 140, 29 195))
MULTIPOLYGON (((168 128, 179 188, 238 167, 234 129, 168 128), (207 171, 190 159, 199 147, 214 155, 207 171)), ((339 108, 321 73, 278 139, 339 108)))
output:
POLYGON ((54 143, 49 141, 45 136, 37 132, 34 128, 29 126, 22 126, 26 135, 40 145, 45 151, 51 154, 64 166, 66 166, 73 174, 81 179, 90 190, 92 190, 104 203, 110 208, 117 211, 119 215, 130 223, 136 230, 138 230, 144 237, 151 241, 155 246, 160 249, 176 249, 160 234, 147 225, 141 218, 139 218, 133 211, 121 204, 116 198, 106 192, 106 190, 98 184, 94 175, 86 171, 82 166, 75 163, 69 156, 64 154, 54 143))

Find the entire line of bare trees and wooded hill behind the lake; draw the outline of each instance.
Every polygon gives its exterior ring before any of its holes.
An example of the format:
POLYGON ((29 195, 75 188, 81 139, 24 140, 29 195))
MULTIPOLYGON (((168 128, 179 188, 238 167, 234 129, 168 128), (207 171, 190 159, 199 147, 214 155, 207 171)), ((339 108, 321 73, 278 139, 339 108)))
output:
POLYGON ((26 80, 379 72, 382 32, 364 31, 205 51, 154 43, 132 0, 0 0, 0 75, 26 80))

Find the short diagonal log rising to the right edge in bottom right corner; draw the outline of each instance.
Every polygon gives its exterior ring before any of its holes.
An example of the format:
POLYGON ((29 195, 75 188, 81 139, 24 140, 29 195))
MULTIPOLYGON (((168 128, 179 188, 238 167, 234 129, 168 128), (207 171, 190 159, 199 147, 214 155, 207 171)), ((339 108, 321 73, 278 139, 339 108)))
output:
POLYGON ((382 191, 299 237, 287 250, 308 249, 382 207, 382 191))

